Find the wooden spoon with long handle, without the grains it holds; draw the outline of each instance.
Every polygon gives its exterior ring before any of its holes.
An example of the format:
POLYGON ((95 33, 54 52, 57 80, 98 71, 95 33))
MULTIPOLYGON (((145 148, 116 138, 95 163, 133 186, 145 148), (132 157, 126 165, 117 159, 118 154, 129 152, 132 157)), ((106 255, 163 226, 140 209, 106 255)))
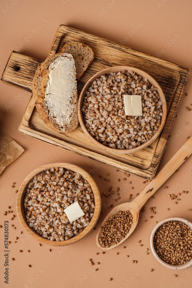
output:
POLYGON ((176 169, 183 164, 183 162, 191 155, 192 153, 192 136, 185 142, 185 144, 174 154, 174 156, 167 162, 167 164, 160 170, 160 172, 155 176, 155 178, 145 187, 145 189, 131 202, 126 202, 123 204, 119 204, 115 208, 111 210, 105 217, 104 221, 101 224, 101 227, 99 229, 99 232, 96 237, 96 243, 98 247, 108 250, 113 247, 116 247, 117 245, 121 244, 123 241, 125 241, 135 230, 139 218, 139 211, 142 208, 142 206, 145 204, 145 202, 157 191, 159 187, 176 171, 176 169), (118 244, 109 246, 109 248, 102 247, 100 245, 99 238, 102 234, 102 227, 105 226, 105 222, 114 214, 116 214, 118 211, 130 211, 133 220, 131 228, 126 235, 125 238, 123 238, 118 244))

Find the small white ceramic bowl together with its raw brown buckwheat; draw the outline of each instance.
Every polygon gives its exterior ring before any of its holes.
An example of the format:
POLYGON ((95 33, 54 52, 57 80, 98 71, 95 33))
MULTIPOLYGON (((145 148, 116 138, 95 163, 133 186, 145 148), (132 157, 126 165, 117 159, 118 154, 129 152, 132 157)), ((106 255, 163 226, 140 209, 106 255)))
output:
POLYGON ((192 223, 180 217, 159 222, 150 237, 155 258, 171 269, 184 269, 192 265, 192 223))

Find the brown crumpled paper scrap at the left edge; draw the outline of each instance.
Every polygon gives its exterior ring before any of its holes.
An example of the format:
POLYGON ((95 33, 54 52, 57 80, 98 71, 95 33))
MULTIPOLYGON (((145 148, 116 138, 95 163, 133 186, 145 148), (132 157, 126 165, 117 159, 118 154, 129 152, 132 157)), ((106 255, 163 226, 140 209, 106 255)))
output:
POLYGON ((24 149, 9 135, 0 130, 0 174, 10 163, 23 153, 24 149))

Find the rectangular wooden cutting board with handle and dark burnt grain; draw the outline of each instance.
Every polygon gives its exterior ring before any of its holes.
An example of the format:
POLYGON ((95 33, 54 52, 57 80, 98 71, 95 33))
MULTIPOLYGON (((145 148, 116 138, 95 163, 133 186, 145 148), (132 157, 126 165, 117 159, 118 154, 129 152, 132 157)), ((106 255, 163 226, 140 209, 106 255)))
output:
MULTIPOLYGON (((80 126, 66 134, 48 128, 35 108, 33 94, 20 123, 19 132, 145 179, 153 179, 190 70, 65 25, 58 27, 48 56, 57 53, 69 41, 85 43, 94 52, 93 62, 77 83, 78 95, 88 79, 110 66, 127 65, 139 68, 149 73, 159 83, 168 108, 166 123, 160 136, 151 145, 133 154, 107 153, 90 142, 80 126)), ((13 51, 1 81, 31 92, 33 77, 39 63, 40 60, 13 51)))

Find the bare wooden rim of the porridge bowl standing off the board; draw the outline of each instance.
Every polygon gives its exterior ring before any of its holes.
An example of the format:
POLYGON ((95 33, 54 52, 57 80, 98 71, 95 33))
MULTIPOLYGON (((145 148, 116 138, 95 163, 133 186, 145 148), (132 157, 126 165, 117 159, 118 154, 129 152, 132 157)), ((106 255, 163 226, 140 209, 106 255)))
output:
POLYGON ((91 230, 94 228, 94 226, 97 223, 97 220, 99 218, 100 211, 101 211, 101 197, 100 197, 100 192, 98 190, 97 184, 95 183, 94 179, 85 170, 83 170, 79 166, 76 166, 73 164, 56 162, 56 163, 50 163, 50 164, 43 165, 43 166, 33 170, 24 179, 24 181, 21 184, 19 191, 18 191, 17 200, 16 200, 16 210, 17 210, 17 215, 18 215, 18 218, 19 218, 21 225, 23 226, 25 231, 31 237, 33 237, 35 240, 37 240, 41 243, 47 244, 47 245, 52 245, 52 246, 66 246, 66 245, 70 245, 70 244, 73 244, 73 243, 79 241, 80 239, 82 239, 83 237, 88 235, 91 232, 91 230), (88 181, 88 183, 90 183, 93 194, 94 194, 94 202, 95 202, 94 214, 93 214, 93 217, 92 217, 89 225, 87 227, 85 227, 85 229, 81 233, 79 233, 78 235, 71 237, 69 240, 64 240, 64 241, 59 241, 59 242, 51 241, 49 239, 43 238, 42 236, 38 235, 35 232, 35 230, 33 230, 32 228, 30 228, 28 226, 26 218, 25 218, 25 214, 24 214, 24 198, 25 198, 25 192, 26 192, 26 189, 28 187, 29 182, 31 181, 31 179, 34 178, 34 176, 36 174, 41 173, 42 171, 47 171, 47 170, 51 169, 52 167, 63 167, 65 169, 70 169, 73 172, 77 172, 77 173, 81 174, 81 176, 84 179, 86 179, 88 181))

